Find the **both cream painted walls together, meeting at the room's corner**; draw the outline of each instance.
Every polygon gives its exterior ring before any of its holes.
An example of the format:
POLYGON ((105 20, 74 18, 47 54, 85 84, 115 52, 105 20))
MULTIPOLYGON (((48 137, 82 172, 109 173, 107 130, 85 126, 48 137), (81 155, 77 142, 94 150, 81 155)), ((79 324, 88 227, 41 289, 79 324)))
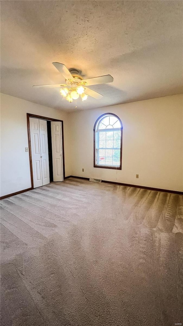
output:
POLYGON ((63 120, 66 176, 183 191, 182 101, 174 95, 66 113, 1 94, 1 196, 31 187, 27 112, 63 120), (123 123, 122 170, 93 168, 93 126, 107 112, 123 123))

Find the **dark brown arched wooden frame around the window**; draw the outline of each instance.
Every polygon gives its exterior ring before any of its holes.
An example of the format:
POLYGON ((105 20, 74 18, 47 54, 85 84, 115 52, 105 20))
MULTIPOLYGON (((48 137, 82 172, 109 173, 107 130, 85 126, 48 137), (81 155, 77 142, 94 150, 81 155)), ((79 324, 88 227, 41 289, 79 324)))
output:
MULTIPOLYGON (((115 129, 115 128, 114 128, 115 129)), ((109 129, 108 129, 109 130, 109 129)), ((94 128, 93 128, 93 167, 94 168, 99 168, 99 169, 113 169, 113 170, 121 170, 122 169, 122 135, 123 135, 123 125, 122 122, 120 120, 120 118, 114 114, 114 113, 104 113, 102 115, 100 115, 100 117, 96 120, 95 124, 94 124, 94 128), (97 165, 96 164, 96 160, 97 160, 97 156, 96 156, 96 132, 97 132, 97 128, 98 125, 100 124, 101 120, 107 116, 107 115, 112 115, 114 117, 116 117, 119 122, 120 122, 120 129, 121 129, 121 139, 120 139, 120 166, 119 167, 115 167, 115 166, 104 166, 104 165, 97 165)))

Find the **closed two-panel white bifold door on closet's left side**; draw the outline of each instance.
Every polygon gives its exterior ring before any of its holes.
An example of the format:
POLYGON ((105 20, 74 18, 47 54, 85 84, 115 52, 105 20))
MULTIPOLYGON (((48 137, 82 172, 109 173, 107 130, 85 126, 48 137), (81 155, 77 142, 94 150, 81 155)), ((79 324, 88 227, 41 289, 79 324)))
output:
POLYGON ((34 188, 49 184, 47 121, 29 118, 34 188))

